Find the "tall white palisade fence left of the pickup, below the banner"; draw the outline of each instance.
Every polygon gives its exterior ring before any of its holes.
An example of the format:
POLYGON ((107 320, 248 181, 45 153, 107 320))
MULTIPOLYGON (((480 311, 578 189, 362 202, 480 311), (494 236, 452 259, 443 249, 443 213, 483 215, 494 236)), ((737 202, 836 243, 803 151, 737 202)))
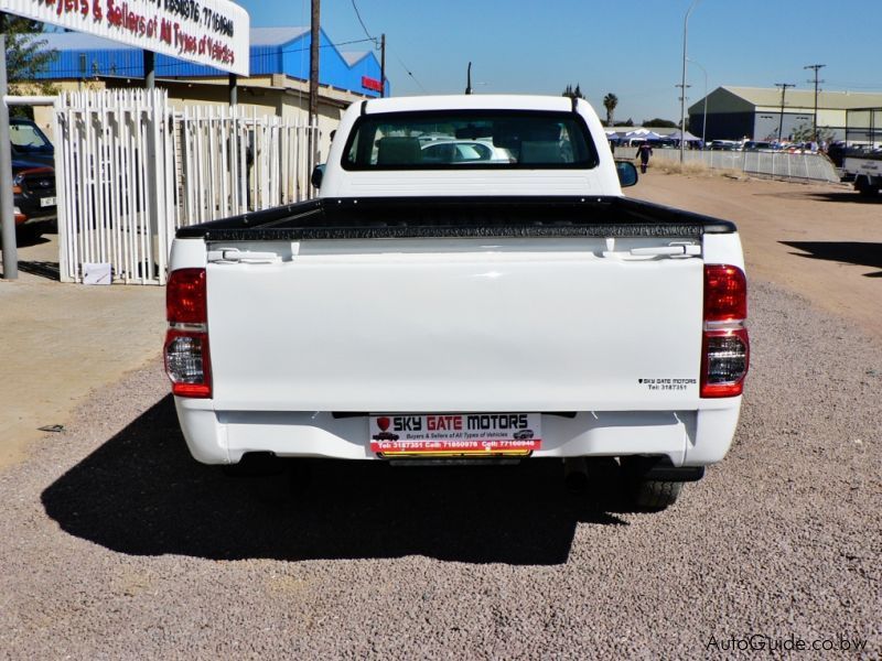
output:
POLYGON ((109 263, 115 282, 164 284, 175 229, 312 195, 318 130, 174 111, 160 89, 77 91, 55 106, 55 142, 62 280, 109 263))

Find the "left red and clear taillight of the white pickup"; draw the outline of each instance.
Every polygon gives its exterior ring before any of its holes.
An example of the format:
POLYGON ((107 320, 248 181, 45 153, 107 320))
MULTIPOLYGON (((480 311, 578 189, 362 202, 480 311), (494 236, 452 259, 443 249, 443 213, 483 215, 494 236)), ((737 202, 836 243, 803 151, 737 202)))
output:
POLYGON ((165 372, 179 397, 212 397, 205 269, 172 271, 165 290, 165 372))

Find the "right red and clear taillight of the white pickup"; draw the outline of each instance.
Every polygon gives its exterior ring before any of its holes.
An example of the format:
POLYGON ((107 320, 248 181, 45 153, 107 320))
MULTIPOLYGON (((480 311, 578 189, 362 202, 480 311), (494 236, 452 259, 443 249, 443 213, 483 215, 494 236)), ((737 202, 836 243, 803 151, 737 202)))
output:
POLYGON ((729 264, 704 266, 701 397, 735 397, 750 365, 747 279, 729 264))

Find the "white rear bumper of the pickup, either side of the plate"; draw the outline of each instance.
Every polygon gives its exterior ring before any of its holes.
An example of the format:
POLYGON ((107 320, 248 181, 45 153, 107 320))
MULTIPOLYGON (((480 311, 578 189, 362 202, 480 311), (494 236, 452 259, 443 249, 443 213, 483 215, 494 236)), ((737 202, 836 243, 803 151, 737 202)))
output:
MULTIPOLYGON (((542 415, 535 457, 666 456, 673 466, 707 466, 729 451, 741 398, 700 411, 583 411, 542 415)), ((330 412, 215 411, 212 400, 175 398, 187 446, 204 464, 236 464, 251 452, 282 457, 377 459, 367 419, 330 412)))

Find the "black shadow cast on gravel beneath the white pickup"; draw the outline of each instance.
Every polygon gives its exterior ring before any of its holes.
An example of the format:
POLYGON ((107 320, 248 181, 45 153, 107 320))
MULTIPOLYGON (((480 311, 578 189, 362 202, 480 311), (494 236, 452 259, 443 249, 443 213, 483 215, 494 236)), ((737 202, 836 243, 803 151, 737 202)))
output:
MULTIPOLYGON (((394 467, 289 462, 225 476, 193 460, 171 395, 42 494, 69 534, 133 555, 213 560, 426 555, 469 563, 567 562, 579 522, 623 524, 568 490, 560 462, 394 467)), ((615 507, 607 508, 615 510, 615 507)))

